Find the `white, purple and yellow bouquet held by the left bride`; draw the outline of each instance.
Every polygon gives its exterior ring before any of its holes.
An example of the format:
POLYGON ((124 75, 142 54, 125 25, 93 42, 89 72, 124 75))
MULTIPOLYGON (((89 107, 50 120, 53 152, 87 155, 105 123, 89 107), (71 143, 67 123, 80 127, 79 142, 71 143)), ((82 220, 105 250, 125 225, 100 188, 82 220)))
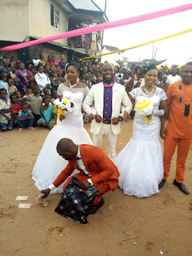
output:
POLYGON ((67 97, 60 97, 54 100, 53 104, 58 109, 60 115, 63 115, 65 111, 72 112, 75 110, 74 102, 67 97))

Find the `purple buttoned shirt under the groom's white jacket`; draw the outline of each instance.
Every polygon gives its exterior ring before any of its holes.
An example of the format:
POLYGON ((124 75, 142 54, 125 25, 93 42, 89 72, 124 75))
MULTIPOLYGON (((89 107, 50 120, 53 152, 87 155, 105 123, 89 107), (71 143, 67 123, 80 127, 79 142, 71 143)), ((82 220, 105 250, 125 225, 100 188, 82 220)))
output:
POLYGON ((112 115, 113 87, 104 87, 103 120, 110 121, 112 115))

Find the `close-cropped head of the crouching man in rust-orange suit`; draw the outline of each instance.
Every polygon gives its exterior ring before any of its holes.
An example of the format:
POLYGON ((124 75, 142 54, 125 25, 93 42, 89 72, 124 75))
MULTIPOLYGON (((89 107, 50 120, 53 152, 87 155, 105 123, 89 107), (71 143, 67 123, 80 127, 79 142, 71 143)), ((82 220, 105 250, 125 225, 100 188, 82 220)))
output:
POLYGON ((76 157, 78 152, 78 146, 70 139, 63 138, 58 142, 57 152, 60 156, 66 160, 71 160, 76 157))

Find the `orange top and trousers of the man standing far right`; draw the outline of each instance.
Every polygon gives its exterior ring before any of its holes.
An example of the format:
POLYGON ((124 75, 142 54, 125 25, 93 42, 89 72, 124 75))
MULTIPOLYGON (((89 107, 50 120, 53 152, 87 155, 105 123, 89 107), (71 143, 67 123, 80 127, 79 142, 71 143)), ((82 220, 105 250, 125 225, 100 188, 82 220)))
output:
POLYGON ((169 118, 166 125, 164 139, 164 177, 166 180, 170 172, 172 156, 177 148, 177 167, 175 179, 184 182, 186 159, 192 138, 192 84, 184 84, 182 80, 168 86, 167 90, 169 118))

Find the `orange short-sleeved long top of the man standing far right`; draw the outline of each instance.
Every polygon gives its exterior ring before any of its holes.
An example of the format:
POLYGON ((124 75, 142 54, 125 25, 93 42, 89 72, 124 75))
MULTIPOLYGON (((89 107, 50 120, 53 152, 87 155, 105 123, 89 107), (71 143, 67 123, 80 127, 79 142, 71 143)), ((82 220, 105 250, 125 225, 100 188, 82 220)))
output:
POLYGON ((192 84, 179 80, 168 86, 166 93, 170 104, 166 133, 174 138, 192 137, 192 84), (187 106, 189 105, 189 106, 187 106), (188 111, 189 109, 189 111, 188 111), (186 115, 184 115, 186 112, 186 115))

